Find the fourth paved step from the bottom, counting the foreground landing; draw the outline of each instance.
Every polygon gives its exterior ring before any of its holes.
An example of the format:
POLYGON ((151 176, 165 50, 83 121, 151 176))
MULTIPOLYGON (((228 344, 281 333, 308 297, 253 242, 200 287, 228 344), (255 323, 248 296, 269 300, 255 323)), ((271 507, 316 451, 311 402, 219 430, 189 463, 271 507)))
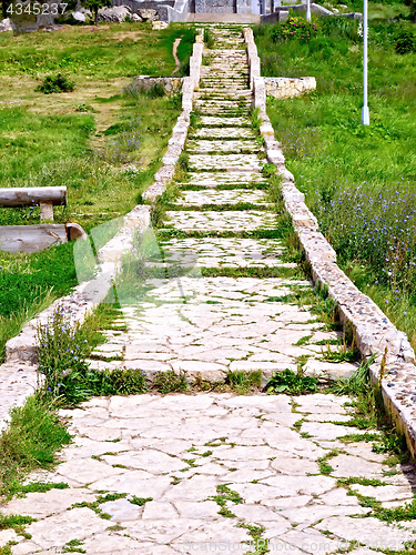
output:
POLYGON ((169 210, 166 216, 169 221, 164 222, 165 224, 173 226, 175 230, 191 233, 195 231, 241 233, 243 231, 276 229, 276 215, 261 210, 224 210, 222 212, 215 210, 204 212, 169 210))

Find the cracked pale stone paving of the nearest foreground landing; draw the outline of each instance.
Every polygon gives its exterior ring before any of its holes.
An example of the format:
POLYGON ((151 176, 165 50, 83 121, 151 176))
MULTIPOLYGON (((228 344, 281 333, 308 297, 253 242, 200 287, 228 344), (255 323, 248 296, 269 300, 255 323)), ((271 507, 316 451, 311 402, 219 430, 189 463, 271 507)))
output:
MULTIPOLYGON (((388 543, 404 549, 406 541, 416 539, 414 525, 371 516, 339 485, 339 472, 319 474, 319 457, 331 452, 332 442, 303 437, 294 427, 306 415, 318 418, 323 407, 347 416, 348 398, 307 398, 308 405, 294 410, 287 395, 146 394, 97 397, 61 411, 71 417, 74 442, 54 471, 33 474, 31 481, 67 482, 70 487, 29 493, 3 505, 2 514, 30 515, 37 522, 26 527, 28 539, 0 532, 0 545, 17 541, 13 554, 58 553, 73 539, 87 553, 192 554, 209 545, 248 553, 254 545, 250 524, 264 528, 261 542, 268 542, 272 553, 284 546, 290 553, 334 553, 354 541, 362 548, 388 543), (99 430, 111 431, 111 438, 99 437, 99 430), (234 501, 226 501, 227 513, 222 514, 219 500, 225 485, 234 501), (134 496, 143 500, 141 505, 134 496)), ((379 463, 364 458, 371 444, 361 448, 362 456, 339 455, 349 458, 343 477, 356 475, 353 468, 358 475, 362 467, 372 467, 373 475, 381 472, 379 463)), ((393 485, 395 476, 385 475, 388 485, 355 484, 353 492, 404 503, 415 482, 412 473, 402 476, 406 486, 393 485)))

